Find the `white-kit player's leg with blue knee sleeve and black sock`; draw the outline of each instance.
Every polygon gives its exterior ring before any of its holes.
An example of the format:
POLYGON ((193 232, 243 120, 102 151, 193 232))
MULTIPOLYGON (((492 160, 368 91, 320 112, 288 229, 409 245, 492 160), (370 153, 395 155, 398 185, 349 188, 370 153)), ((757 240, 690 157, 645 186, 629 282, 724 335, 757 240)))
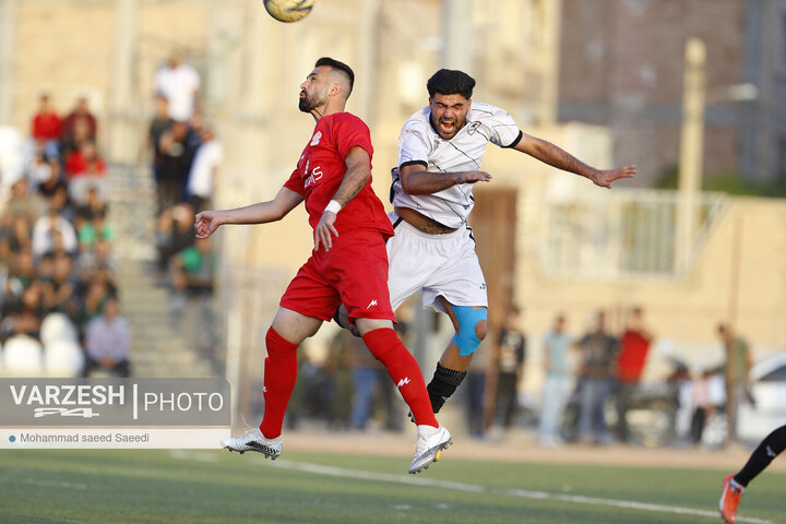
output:
POLYGON ((433 378, 428 384, 429 397, 431 398, 431 407, 438 413, 445 401, 455 392, 458 384, 466 377, 469 362, 477 345, 486 338, 486 309, 485 307, 474 307, 473 312, 483 313, 477 315, 463 315, 456 313, 453 305, 444 297, 439 297, 440 302, 448 312, 456 336, 448 344, 442 353, 442 357, 437 362, 433 378), (483 311, 480 311, 483 310, 483 311), (477 318, 477 320, 475 320, 477 318), (472 330, 468 333, 462 333, 462 330, 472 330), (474 336, 473 336, 474 335, 474 336), (456 341, 463 346, 458 347, 456 341))

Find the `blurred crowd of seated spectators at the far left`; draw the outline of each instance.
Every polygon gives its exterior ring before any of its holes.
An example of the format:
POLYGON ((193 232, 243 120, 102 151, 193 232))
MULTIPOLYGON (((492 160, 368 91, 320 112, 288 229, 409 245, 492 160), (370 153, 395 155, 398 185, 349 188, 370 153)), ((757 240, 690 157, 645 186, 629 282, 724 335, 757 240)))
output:
POLYGON ((43 95, 33 159, 21 178, 3 180, 11 190, 0 203, 0 374, 129 376, 96 129, 85 98, 60 119, 43 95))

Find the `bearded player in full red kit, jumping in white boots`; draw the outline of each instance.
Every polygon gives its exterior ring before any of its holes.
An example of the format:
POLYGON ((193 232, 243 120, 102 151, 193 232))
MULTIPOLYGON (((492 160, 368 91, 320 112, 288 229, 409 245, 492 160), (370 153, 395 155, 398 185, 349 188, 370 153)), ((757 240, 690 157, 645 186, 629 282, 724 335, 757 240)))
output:
POLYGON ((451 434, 437 422, 420 368, 393 331, 384 243, 393 228, 371 189, 369 130, 362 120, 344 112, 354 80, 348 66, 321 58, 300 85, 298 107, 314 117, 317 127, 275 199, 196 215, 196 237, 206 238, 222 224, 279 221, 305 201, 314 229, 311 258, 287 287, 265 337, 262 424, 243 437, 223 440, 222 445, 272 458, 281 454, 284 413, 297 374, 297 347, 323 321, 330 321, 343 302, 415 415, 418 442, 409 473, 417 473, 438 460, 450 445, 451 434))

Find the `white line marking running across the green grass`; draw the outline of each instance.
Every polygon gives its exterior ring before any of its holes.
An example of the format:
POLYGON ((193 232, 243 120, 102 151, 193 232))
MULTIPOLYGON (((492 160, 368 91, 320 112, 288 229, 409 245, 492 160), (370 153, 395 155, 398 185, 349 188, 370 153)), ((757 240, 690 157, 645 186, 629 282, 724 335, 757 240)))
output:
MULTIPOLYGON (((207 453, 192 453, 181 451, 178 453, 176 458, 183 460, 202 460, 199 455, 206 455, 207 453)), ((174 456, 174 455, 172 455, 174 456)), ((282 469, 290 469, 298 472, 313 473, 317 475, 326 475, 331 477, 353 478, 357 480, 376 480, 380 483, 394 483, 404 484, 408 486, 428 486, 431 488, 451 489, 453 491, 467 491, 474 493, 501 493, 511 497, 521 497, 524 499, 537 499, 537 500, 556 500, 560 502, 570 502, 575 504, 593 504, 593 505, 607 505, 611 508, 626 508, 630 510, 650 511, 655 513, 671 513, 678 515, 693 515, 704 516, 717 521, 719 514, 717 511, 706 510, 694 510, 692 508, 680 508, 675 505, 662 505, 651 504, 645 502, 635 502, 629 500, 616 500, 616 499, 604 499, 598 497, 585 497, 581 495, 562 495, 562 493, 550 493, 548 491, 533 491, 528 489, 513 489, 513 488, 498 488, 492 486, 481 486, 477 484, 466 483, 454 483, 452 480, 437 480, 424 477, 404 476, 391 473, 377 473, 377 472, 364 472, 361 469, 346 469, 343 467, 324 466, 322 464, 311 464, 308 462, 293 462, 287 460, 278 458, 277 461, 270 461, 261 456, 253 455, 250 460, 260 464, 269 466, 279 467, 282 469)), ((772 521, 765 521, 762 519, 753 519, 746 516, 738 516, 737 522, 749 522, 751 524, 775 524, 772 521)))

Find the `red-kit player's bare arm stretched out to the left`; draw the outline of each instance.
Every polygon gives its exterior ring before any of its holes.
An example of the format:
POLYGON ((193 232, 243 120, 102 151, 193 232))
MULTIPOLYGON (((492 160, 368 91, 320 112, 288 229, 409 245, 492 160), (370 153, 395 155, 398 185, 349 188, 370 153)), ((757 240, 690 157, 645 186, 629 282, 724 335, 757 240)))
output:
POLYGON ((267 202, 235 210, 203 211, 194 219, 196 238, 210 237, 223 224, 265 224, 281 221, 302 201, 302 194, 282 188, 275 199, 267 202))

